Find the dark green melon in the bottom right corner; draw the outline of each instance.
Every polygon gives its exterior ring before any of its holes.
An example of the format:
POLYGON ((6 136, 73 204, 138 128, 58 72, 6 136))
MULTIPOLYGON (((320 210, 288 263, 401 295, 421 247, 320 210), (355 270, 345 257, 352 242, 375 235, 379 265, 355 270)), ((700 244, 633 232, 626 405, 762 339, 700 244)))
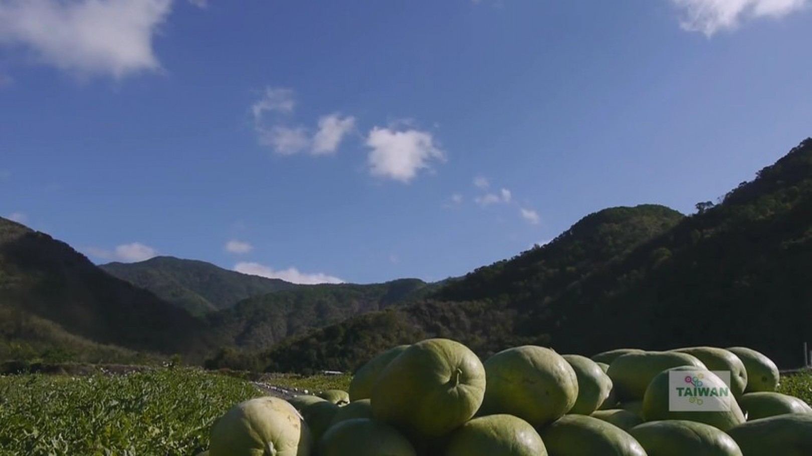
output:
POLYGON ((728 431, 744 456, 810 456, 812 415, 789 413, 754 419, 728 431))

